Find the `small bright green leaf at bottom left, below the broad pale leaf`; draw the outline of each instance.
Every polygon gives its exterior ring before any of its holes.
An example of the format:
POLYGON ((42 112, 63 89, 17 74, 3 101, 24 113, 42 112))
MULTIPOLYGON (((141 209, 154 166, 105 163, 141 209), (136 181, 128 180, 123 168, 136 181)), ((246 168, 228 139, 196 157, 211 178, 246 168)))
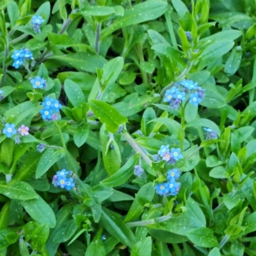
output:
POLYGON ((31 234, 31 248, 35 251, 42 250, 42 247, 47 241, 49 236, 49 225, 43 224, 36 227, 31 234))

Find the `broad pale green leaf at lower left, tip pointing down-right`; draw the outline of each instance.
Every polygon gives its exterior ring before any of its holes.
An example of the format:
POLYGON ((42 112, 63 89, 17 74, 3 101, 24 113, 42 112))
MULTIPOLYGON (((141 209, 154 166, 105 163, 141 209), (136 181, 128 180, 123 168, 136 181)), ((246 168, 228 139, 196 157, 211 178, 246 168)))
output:
POLYGON ((40 224, 48 224, 50 228, 56 225, 56 218, 51 207, 45 200, 38 196, 36 199, 20 201, 26 212, 40 224))

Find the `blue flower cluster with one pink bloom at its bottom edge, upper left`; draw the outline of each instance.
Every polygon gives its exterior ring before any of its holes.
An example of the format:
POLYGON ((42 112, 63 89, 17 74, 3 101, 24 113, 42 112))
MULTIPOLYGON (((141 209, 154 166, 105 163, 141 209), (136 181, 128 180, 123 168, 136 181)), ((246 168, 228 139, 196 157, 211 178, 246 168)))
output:
POLYGON ((40 110, 40 114, 44 120, 54 121, 58 119, 57 113, 60 113, 60 109, 62 108, 59 100, 45 97, 42 106, 44 106, 44 108, 40 110))

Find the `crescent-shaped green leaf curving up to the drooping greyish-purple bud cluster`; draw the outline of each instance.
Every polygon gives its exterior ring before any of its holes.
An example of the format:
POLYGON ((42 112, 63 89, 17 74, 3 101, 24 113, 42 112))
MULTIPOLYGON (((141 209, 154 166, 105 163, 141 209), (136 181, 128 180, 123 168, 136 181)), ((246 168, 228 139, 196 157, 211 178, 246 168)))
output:
POLYGON ((122 166, 118 172, 111 175, 105 180, 102 180, 100 184, 107 187, 116 187, 124 184, 124 182, 131 177, 134 172, 134 166, 138 163, 140 153, 135 154, 122 166))

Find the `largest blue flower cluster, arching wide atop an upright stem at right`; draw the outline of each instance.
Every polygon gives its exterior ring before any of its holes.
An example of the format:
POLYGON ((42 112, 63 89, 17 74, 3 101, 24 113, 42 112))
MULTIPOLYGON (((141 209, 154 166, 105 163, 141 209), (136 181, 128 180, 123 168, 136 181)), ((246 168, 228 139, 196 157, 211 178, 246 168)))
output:
POLYGON ((198 106, 198 103, 204 99, 204 89, 192 80, 183 80, 166 91, 164 102, 168 102, 171 108, 178 109, 180 102, 186 100, 186 95, 189 95, 189 103, 198 106))

